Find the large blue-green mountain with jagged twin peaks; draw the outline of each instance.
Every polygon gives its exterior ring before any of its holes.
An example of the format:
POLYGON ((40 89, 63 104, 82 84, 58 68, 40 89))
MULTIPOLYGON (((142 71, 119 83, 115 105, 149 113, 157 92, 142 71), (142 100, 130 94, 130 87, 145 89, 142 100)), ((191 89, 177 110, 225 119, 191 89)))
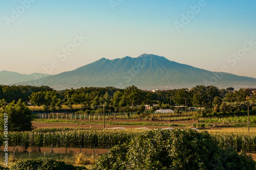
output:
MULTIPOLYGON (((20 83, 33 85, 34 81, 20 83)), ((196 85, 214 85, 220 88, 256 87, 256 79, 225 72, 212 72, 156 55, 143 54, 137 58, 102 58, 73 71, 39 80, 37 85, 54 89, 89 86, 125 88, 135 85, 141 89, 183 88, 196 85)))

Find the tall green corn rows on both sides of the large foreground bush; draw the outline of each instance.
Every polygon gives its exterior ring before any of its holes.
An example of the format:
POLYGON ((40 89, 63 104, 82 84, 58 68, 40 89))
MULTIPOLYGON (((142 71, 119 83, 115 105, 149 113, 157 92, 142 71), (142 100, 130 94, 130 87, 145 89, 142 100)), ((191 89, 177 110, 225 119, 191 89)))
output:
MULTIPOLYGON (((46 130, 51 131, 51 130, 46 130)), ((10 132, 9 146, 24 148, 54 147, 54 148, 95 148, 108 149, 117 144, 130 141, 142 130, 67 130, 55 132, 10 132)), ((255 133, 210 133, 220 147, 236 149, 238 152, 256 153, 255 133)), ((3 145, 4 134, 0 134, 0 144, 3 145)))

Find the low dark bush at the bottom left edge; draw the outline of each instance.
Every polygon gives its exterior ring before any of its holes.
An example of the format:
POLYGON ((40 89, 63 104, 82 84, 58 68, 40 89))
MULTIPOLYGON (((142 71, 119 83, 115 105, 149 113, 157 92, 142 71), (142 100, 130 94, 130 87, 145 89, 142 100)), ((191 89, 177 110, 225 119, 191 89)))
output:
POLYGON ((50 158, 38 158, 38 159, 24 159, 16 162, 10 170, 82 170, 87 169, 85 167, 76 167, 66 164, 62 161, 56 161, 50 158))

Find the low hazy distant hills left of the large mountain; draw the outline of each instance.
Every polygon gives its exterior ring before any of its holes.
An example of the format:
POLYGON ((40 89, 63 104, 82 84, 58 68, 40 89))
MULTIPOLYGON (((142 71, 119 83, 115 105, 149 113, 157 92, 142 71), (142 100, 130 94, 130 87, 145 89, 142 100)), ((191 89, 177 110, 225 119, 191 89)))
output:
POLYGON ((3 71, 0 71, 0 84, 8 85, 8 84, 15 84, 17 82, 26 82, 26 81, 39 79, 40 76, 47 77, 50 75, 46 75, 46 74, 41 75, 39 73, 24 75, 24 74, 19 74, 18 72, 3 70, 3 71))

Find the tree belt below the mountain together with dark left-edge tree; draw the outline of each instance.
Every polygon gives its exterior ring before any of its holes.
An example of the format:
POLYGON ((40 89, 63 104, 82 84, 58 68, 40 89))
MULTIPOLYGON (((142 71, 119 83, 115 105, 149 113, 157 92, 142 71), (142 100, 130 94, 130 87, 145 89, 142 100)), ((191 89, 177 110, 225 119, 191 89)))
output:
MULTIPOLYGON (((0 125, 4 125, 4 113, 8 114, 10 131, 23 131, 31 129, 32 111, 25 101, 31 101, 34 106, 42 109, 61 110, 63 105, 72 109, 79 105, 80 112, 131 112, 145 111, 145 105, 156 109, 168 109, 173 106, 187 106, 203 108, 202 116, 218 112, 236 112, 250 106, 256 110, 256 94, 249 89, 234 90, 233 88, 219 89, 215 86, 198 85, 191 89, 173 89, 165 91, 143 91, 136 86, 125 89, 115 87, 81 87, 77 89, 54 90, 48 86, 7 86, 0 85, 0 125), (249 99, 250 96, 250 100, 249 99), (100 107, 97 107, 100 106, 100 107), (133 107, 134 106, 134 107, 133 107), (136 107, 138 106, 138 107, 136 107), (22 124, 21 124, 22 123, 22 124)), ((65 109, 66 109, 65 108, 65 109)), ((77 111, 77 110, 76 110, 77 111)))

